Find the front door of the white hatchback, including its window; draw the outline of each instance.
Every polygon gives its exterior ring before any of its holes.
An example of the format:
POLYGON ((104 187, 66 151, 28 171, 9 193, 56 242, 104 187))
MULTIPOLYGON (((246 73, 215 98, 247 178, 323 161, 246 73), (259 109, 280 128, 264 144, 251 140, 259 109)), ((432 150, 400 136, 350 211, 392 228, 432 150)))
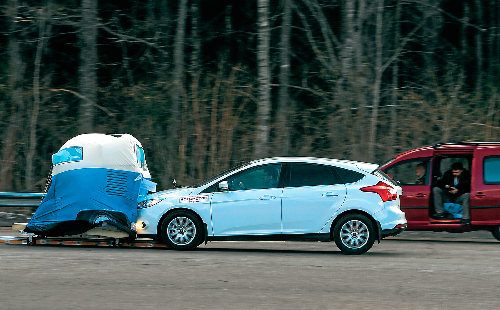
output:
POLYGON ((214 236, 281 234, 281 166, 262 165, 225 179, 229 191, 216 190, 210 202, 214 236))

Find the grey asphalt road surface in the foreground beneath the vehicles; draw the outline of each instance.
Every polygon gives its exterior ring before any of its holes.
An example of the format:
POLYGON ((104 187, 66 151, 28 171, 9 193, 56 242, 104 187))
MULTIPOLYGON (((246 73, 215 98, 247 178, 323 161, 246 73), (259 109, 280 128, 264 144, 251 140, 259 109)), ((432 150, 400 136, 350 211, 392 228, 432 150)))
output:
POLYGON ((500 309, 500 243, 210 242, 168 249, 0 245, 0 308, 500 309))

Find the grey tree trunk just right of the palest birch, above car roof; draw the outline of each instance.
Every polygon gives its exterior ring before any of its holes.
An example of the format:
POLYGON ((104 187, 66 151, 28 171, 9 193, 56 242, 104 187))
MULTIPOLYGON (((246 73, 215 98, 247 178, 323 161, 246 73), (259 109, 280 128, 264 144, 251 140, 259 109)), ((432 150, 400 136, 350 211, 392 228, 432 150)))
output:
POLYGON ((290 25, 291 25, 291 0, 282 0, 283 18, 281 21, 281 34, 279 39, 279 102, 277 111, 278 134, 281 144, 281 156, 288 156, 290 150, 290 130, 288 118, 290 115, 290 98, 288 84, 290 79, 290 25))

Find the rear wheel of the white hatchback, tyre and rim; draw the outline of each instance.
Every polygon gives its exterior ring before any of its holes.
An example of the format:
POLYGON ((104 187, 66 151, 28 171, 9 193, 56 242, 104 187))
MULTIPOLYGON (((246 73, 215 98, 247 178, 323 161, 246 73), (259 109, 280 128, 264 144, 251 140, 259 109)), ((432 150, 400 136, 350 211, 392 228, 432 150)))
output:
POLYGON ((360 214, 348 214, 333 229, 333 240, 340 251, 360 255, 371 249, 375 242, 373 223, 360 214))

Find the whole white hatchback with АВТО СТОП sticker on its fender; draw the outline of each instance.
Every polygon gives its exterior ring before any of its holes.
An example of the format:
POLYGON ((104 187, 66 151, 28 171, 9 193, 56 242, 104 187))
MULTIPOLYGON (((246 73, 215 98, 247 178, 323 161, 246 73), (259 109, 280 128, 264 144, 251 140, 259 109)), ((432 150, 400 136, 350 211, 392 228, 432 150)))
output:
POLYGON ((335 241, 347 254, 406 228, 402 190, 378 165, 255 160, 137 205, 137 236, 191 250, 207 241, 335 241))

